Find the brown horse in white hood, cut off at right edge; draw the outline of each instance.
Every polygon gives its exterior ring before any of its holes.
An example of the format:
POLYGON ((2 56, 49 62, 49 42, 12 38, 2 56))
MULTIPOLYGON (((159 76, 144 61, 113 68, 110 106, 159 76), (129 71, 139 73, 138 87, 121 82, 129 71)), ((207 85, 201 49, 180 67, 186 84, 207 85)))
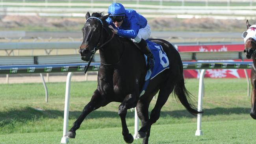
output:
POLYGON ((252 108, 250 110, 250 116, 256 120, 256 25, 250 25, 248 20, 246 21, 247 31, 243 32, 242 37, 245 41, 246 57, 250 59, 252 57, 253 65, 250 72, 250 81, 252 84, 252 108))

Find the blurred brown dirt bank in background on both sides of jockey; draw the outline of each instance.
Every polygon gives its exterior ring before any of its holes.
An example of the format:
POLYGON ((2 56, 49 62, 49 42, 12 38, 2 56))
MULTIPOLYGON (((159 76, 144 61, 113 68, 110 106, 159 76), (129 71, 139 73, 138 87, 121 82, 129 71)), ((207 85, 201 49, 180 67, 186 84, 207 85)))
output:
MULTIPOLYGON (((217 20, 213 18, 153 18, 148 23, 157 31, 244 31, 245 20, 217 20)), ((71 30, 78 31, 85 23, 85 18, 56 18, 39 16, 2 16, 1 30, 71 30), (28 29, 30 30, 30 29, 28 29)))

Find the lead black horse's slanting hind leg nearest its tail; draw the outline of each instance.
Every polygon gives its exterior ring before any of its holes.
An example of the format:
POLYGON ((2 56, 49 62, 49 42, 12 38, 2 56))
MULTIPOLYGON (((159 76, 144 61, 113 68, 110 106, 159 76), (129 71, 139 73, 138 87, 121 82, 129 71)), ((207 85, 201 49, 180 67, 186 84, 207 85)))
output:
MULTIPOLYGON (((155 105, 154 109, 152 109, 152 111, 151 111, 149 120, 147 122, 145 122, 145 124, 141 127, 141 129, 139 129, 137 137, 144 138, 146 136, 146 132, 150 131, 151 125, 154 124, 159 119, 161 108, 168 100, 168 97, 171 94, 171 92, 173 91, 173 89, 174 89, 173 83, 170 83, 167 85, 165 83, 165 85, 162 85, 160 87, 156 105, 155 105)), ((145 142, 143 144, 147 144, 148 143, 147 141, 148 141, 148 139, 143 141, 143 142, 145 142)))

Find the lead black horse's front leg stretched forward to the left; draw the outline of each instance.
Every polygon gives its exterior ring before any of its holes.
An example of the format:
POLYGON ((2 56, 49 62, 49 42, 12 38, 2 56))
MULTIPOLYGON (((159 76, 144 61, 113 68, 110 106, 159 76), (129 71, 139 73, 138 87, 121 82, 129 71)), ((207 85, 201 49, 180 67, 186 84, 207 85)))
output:
POLYGON ((83 108, 82 113, 78 117, 78 119, 73 123, 73 126, 71 129, 66 133, 64 137, 66 138, 75 138, 76 137, 76 130, 80 127, 85 117, 91 113, 92 111, 98 109, 101 106, 107 105, 109 102, 106 100, 106 98, 102 97, 100 92, 98 90, 95 90, 91 101, 85 105, 83 108))

